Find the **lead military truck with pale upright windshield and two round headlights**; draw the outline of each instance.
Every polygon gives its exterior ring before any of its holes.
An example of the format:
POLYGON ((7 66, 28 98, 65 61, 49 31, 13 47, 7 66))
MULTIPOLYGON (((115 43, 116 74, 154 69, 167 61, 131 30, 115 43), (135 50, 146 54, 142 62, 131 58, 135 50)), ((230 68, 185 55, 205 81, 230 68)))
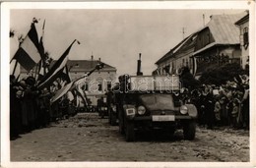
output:
POLYGON ((136 131, 149 129, 164 129, 170 135, 183 129, 185 140, 195 138, 197 109, 182 100, 178 76, 123 75, 107 97, 109 123, 118 121, 126 141, 136 140, 136 131))

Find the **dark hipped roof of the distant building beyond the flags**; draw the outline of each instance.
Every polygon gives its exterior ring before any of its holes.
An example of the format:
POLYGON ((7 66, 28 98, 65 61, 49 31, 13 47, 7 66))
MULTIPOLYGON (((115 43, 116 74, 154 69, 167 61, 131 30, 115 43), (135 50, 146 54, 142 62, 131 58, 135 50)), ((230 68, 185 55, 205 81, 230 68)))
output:
MULTIPOLYGON (((51 66, 56 62, 56 60, 53 60, 51 63, 51 66)), ((91 71, 96 67, 98 63, 103 63, 102 61, 99 60, 68 60, 67 65, 71 71, 91 71)), ((104 68, 101 69, 100 71, 116 71, 116 68, 105 64, 104 63, 104 68)))

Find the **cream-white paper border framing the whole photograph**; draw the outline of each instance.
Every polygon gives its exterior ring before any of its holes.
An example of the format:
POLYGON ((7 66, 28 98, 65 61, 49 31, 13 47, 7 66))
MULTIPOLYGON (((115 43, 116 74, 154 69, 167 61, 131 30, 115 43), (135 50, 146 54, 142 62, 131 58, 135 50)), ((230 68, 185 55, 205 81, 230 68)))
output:
POLYGON ((10 10, 12 9, 247 9, 250 12, 250 64, 255 63, 254 1, 138 1, 138 2, 3 2, 1 4, 1 166, 2 167, 255 167, 256 113, 253 66, 250 66, 250 162, 11 162, 9 138, 10 10))

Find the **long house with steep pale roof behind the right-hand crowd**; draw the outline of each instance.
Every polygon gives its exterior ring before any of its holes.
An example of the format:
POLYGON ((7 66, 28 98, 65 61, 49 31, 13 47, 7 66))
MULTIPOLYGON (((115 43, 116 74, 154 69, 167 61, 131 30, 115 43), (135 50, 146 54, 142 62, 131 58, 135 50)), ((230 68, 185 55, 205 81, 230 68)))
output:
POLYGON ((234 23, 246 14, 214 15, 202 29, 190 34, 156 62, 158 69, 153 74, 164 74, 163 70, 179 73, 187 66, 195 76, 208 68, 227 63, 239 63, 241 57, 240 30, 234 23))

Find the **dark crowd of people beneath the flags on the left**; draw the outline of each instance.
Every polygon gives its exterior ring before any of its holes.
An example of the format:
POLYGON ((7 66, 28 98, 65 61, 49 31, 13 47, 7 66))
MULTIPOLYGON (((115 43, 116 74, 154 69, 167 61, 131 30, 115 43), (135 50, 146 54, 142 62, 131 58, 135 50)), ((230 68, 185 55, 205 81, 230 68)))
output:
POLYGON ((18 82, 15 76, 10 76, 11 140, 34 129, 48 127, 51 121, 75 113, 75 109, 70 109, 72 106, 69 105, 73 101, 67 96, 50 103, 50 98, 54 95, 56 86, 39 90, 35 86, 33 77, 18 82))

